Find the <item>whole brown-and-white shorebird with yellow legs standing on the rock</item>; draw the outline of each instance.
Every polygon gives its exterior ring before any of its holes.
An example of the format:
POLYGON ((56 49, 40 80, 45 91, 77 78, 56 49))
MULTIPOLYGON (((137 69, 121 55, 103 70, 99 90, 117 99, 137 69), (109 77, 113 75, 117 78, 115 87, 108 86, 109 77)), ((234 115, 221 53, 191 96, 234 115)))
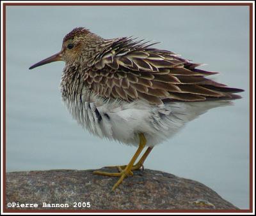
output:
POLYGON ((100 138, 138 147, 127 165, 116 166, 118 172, 93 172, 119 176, 113 190, 187 122, 241 98, 234 93, 242 89, 206 78, 216 72, 152 48, 155 44, 132 37, 105 40, 77 27, 65 36, 60 52, 29 68, 64 61, 62 99, 74 119, 100 138))

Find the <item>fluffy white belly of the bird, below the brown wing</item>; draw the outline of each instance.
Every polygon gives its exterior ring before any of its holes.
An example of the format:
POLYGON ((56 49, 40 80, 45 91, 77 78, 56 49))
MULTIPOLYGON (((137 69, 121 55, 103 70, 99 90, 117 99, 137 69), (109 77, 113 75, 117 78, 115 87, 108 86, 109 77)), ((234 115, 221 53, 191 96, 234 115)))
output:
POLYGON ((97 97, 88 95, 72 100, 66 97, 63 101, 74 119, 100 138, 138 145, 138 134, 143 133, 150 147, 172 137, 187 122, 207 110, 230 104, 229 101, 168 103, 160 106, 152 106, 145 101, 103 103, 97 97))

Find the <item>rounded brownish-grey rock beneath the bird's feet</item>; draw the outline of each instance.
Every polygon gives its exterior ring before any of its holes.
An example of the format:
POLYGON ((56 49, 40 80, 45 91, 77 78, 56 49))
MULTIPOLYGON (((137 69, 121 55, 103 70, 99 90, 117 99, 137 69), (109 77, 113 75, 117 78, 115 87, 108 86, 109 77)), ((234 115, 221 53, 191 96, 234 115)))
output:
MULTIPOLYGON (((116 172, 115 168, 100 170, 116 172)), ((118 178, 93 175, 92 172, 93 170, 64 169, 6 173, 6 205, 38 204, 37 208, 15 206, 7 209, 238 209, 209 187, 162 171, 134 171, 134 176, 125 178, 114 192, 111 188, 118 178), (75 202, 77 206, 74 205, 75 202), (87 202, 90 202, 90 207, 87 202), (43 208, 43 203, 68 205, 43 208)))

